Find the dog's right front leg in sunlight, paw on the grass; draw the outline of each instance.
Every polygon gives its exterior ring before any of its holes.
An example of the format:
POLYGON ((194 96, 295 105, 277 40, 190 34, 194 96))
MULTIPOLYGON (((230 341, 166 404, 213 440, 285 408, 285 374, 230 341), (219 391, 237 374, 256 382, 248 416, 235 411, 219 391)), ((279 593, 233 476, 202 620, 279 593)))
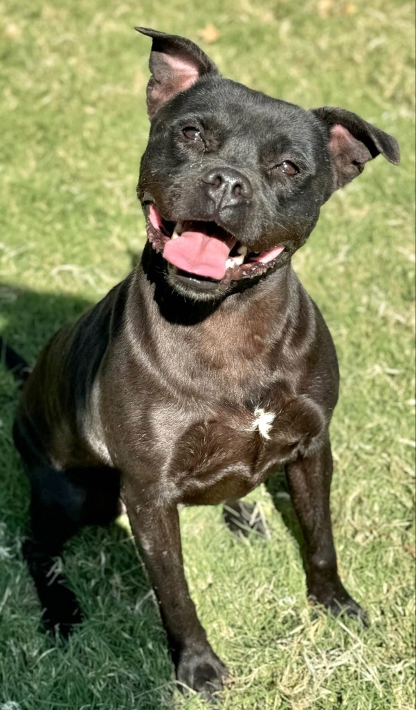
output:
POLYGON ((344 610, 366 621, 365 612, 339 579, 330 514, 332 453, 329 439, 319 451, 288 464, 286 476, 303 533, 309 598, 332 613, 344 610))

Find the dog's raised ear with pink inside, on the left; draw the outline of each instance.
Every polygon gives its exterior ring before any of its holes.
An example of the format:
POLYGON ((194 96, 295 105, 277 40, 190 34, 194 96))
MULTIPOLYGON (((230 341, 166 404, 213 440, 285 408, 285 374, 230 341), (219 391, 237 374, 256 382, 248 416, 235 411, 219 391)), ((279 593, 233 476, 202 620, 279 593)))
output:
POLYGON ((152 37, 147 84, 147 112, 152 118, 176 94, 189 89, 206 74, 219 74, 217 67, 198 45, 178 35, 135 27, 137 32, 152 37))

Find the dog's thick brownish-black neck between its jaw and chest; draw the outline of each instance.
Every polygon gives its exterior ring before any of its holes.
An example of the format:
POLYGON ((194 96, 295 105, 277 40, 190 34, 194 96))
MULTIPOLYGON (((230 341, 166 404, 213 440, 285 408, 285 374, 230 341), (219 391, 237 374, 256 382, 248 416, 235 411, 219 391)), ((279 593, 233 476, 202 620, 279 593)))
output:
POLYGON ((134 323, 132 336, 148 361, 164 381, 186 386, 190 394, 258 399, 276 376, 279 353, 297 320, 301 287, 291 264, 221 301, 196 302, 172 290, 158 257, 145 254, 130 291, 141 312, 140 338, 134 323))

